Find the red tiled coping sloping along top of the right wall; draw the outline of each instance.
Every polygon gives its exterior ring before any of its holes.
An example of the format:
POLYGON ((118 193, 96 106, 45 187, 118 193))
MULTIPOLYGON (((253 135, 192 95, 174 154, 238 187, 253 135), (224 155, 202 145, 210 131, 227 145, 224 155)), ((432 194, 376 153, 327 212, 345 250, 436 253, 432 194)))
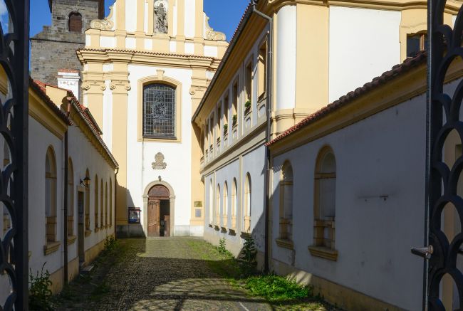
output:
POLYGON ((374 78, 371 82, 363 85, 363 87, 357 88, 356 90, 353 90, 352 92, 347 93, 346 95, 340 97, 338 100, 331 103, 330 105, 327 105, 326 107, 323 107, 321 110, 318 110, 312 115, 309 115, 305 119, 301 120, 301 122, 298 122, 298 124, 284 131, 281 135, 279 135, 278 137, 276 137, 275 139, 273 139, 271 142, 267 143, 266 145, 270 146, 271 144, 279 142, 281 139, 284 139, 285 137, 291 135, 292 133, 297 132, 298 130, 301 130, 303 127, 311 125, 313 122, 316 122, 317 120, 320 120, 322 117, 325 117, 331 112, 338 110, 340 107, 348 105, 350 102, 353 102, 353 100, 357 99, 358 97, 367 94, 368 92, 370 92, 371 90, 374 90, 375 88, 385 85, 390 80, 393 80, 397 78, 398 76, 407 73, 411 69, 416 68, 418 65, 422 65, 423 63, 426 62, 426 60, 427 60, 427 53, 425 51, 418 53, 417 56, 413 58, 407 58, 402 64, 395 65, 394 67, 392 67, 391 70, 386 71, 385 73, 383 73, 383 75, 380 75, 379 77, 374 78))

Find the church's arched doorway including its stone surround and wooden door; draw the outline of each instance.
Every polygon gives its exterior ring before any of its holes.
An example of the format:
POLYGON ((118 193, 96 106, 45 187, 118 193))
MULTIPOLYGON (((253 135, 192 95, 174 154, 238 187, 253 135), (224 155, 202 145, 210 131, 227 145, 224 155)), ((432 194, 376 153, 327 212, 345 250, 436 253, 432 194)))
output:
POLYGON ((170 184, 152 182, 145 189, 143 201, 147 236, 172 236, 175 195, 170 184))

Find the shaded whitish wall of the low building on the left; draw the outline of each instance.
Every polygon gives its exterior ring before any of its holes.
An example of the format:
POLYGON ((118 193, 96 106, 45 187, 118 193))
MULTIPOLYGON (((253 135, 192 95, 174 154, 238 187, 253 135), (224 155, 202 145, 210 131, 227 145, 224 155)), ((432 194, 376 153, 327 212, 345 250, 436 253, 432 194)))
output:
MULTIPOLYGON (((100 153, 93 147, 93 144, 83 136, 80 129, 75 125, 69 127, 69 142, 68 156, 73 162, 74 171, 74 200, 73 200, 73 232, 78 235, 78 195, 77 186, 80 180, 85 178, 85 171, 90 172, 90 228, 93 231, 95 228, 94 219, 94 186, 95 174, 98 174, 99 183, 108 182, 108 217, 109 211, 109 181, 113 183, 113 217, 115 216, 115 174, 114 170, 109 166, 108 162, 101 157, 100 153)), ((28 162, 31 163, 28 169, 28 200, 29 200, 29 251, 31 251, 31 259, 29 266, 33 273, 40 270, 43 263, 46 262, 45 270, 50 273, 55 272, 63 266, 63 180, 64 180, 64 140, 59 139, 49 132, 43 125, 38 123, 32 117, 29 117, 29 152, 28 162), (46 218, 45 218, 45 159, 46 152, 49 146, 53 147, 56 156, 56 172, 57 172, 57 200, 56 200, 56 237, 61 241, 58 251, 50 255, 43 255, 43 246, 46 245, 46 218)), ((100 186, 100 185, 98 185, 100 186)), ((98 198, 100 199, 100 198, 98 198)), ((103 209, 104 211, 104 209, 103 209)), ((103 212, 104 213, 104 212, 103 212)), ((108 221, 109 223, 109 221, 108 221)), ((114 233, 115 223, 113 227, 100 230, 98 233, 94 231, 84 240, 84 248, 87 251, 95 246, 100 241, 103 241, 108 235, 114 233)), ((78 256, 78 241, 68 246, 68 260, 74 260, 78 256)))

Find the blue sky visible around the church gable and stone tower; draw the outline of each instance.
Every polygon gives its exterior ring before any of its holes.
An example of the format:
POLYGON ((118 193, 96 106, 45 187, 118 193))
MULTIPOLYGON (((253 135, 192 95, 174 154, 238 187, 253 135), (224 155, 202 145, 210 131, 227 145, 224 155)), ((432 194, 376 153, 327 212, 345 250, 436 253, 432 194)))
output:
MULTIPOLYGON (((106 0, 107 12, 108 7, 113 3, 114 0, 106 0)), ((248 3, 249 0, 204 0, 204 11, 210 17, 210 26, 216 31, 224 32, 227 35, 227 40, 229 40, 248 3)), ((0 0, 0 16, 2 4, 4 2, 0 0)), ((1 22, 3 23, 3 21, 1 22)), ((42 26, 50 24, 51 14, 50 9, 48 9, 48 0, 31 1, 31 36, 39 33, 42 26)))

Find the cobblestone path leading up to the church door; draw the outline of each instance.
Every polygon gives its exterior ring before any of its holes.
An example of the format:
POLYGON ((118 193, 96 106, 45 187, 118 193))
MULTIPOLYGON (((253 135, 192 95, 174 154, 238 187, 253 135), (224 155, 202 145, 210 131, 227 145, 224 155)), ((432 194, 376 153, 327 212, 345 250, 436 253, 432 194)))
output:
POLYGON ((120 240, 124 255, 102 280, 108 294, 97 309, 93 302, 71 310, 272 310, 213 273, 196 241, 204 243, 194 238, 120 240))

